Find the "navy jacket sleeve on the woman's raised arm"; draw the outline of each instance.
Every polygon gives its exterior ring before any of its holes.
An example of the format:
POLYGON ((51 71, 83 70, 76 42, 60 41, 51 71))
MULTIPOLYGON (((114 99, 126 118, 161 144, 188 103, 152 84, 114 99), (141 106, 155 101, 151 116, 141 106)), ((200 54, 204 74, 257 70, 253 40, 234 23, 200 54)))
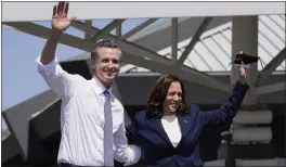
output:
POLYGON ((199 121, 203 125, 206 125, 208 123, 219 124, 221 121, 233 119, 242 106, 247 90, 248 86, 246 84, 237 81, 233 88, 231 97, 220 108, 214 111, 198 112, 199 121))

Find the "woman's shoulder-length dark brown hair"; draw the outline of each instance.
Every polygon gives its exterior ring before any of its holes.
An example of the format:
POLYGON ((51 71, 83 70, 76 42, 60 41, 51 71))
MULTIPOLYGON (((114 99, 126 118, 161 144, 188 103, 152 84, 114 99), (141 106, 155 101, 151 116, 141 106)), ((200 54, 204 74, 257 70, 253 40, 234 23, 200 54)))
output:
POLYGON ((183 82, 176 75, 161 75, 153 87, 151 94, 147 99, 147 115, 148 116, 162 116, 164 102, 168 93, 168 89, 172 82, 179 81, 182 88, 182 100, 179 104, 177 115, 187 114, 185 104, 185 91, 183 82))

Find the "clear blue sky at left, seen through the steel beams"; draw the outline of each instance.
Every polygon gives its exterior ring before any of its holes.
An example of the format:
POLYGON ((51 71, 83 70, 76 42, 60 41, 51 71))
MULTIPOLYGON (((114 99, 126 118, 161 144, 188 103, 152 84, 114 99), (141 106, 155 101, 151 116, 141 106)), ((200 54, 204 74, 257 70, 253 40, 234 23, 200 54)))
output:
MULTIPOLYGON (((128 20, 122 24, 122 34, 132 29, 145 20, 128 20)), ((103 28, 112 20, 93 21, 93 26, 103 28)), ((50 22, 38 22, 51 27, 50 22)), ((83 37, 83 33, 69 27, 66 33, 83 37)), ((48 90, 48 86, 37 73, 35 60, 41 53, 46 39, 2 26, 2 112, 36 94, 48 90)), ((58 44, 56 54, 61 60, 75 56, 83 51, 58 44)), ((2 129, 6 126, 2 118, 2 129)))

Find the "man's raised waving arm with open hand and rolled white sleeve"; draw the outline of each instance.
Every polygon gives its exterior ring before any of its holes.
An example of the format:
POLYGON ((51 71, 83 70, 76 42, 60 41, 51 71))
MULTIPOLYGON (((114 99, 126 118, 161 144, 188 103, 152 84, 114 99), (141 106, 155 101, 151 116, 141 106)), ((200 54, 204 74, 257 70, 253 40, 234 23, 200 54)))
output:
POLYGON ((74 76, 62 69, 55 56, 55 49, 61 39, 61 35, 76 20, 76 17, 68 18, 67 12, 67 2, 58 2, 57 5, 54 5, 50 37, 44 44, 41 55, 36 60, 39 74, 60 98, 68 98, 74 91, 74 76))

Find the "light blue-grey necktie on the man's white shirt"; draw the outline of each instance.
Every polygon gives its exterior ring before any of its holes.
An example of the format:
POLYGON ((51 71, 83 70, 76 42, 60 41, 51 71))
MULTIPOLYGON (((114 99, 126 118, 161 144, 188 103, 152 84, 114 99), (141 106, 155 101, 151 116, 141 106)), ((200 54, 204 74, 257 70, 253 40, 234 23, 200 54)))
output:
POLYGON ((107 90, 104 92, 104 166, 114 166, 114 152, 113 152, 113 115, 110 94, 107 90))

